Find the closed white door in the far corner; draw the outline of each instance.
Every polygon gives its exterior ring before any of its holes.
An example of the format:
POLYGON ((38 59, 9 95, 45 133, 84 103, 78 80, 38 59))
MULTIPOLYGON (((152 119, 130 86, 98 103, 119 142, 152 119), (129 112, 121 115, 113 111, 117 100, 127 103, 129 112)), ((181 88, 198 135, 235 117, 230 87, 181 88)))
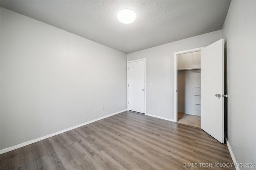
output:
POLYGON ((128 109, 145 113, 145 59, 128 62, 128 109))

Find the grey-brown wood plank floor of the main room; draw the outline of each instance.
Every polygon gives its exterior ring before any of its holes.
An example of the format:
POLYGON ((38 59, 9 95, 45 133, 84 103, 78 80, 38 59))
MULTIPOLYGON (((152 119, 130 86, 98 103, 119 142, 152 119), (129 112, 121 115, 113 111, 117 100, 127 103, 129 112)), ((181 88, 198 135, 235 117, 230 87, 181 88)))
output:
POLYGON ((200 128, 129 111, 1 154, 0 160, 1 170, 235 169, 212 167, 233 162, 227 145, 200 128))

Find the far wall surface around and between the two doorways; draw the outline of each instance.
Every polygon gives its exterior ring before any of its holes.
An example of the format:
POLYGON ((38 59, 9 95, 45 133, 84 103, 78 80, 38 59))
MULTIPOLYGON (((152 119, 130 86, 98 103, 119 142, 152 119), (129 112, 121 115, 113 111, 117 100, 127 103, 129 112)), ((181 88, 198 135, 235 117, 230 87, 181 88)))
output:
POLYGON ((174 52, 204 47, 221 38, 218 30, 127 55, 127 61, 146 58, 147 114, 174 119, 174 52))

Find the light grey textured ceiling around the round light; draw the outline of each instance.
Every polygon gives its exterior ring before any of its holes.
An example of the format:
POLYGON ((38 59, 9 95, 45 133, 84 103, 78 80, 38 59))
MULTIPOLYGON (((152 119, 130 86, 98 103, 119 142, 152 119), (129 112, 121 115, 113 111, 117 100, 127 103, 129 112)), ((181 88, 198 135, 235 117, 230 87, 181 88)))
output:
POLYGON ((222 29, 230 1, 1 0, 1 6, 124 53, 222 29), (136 12, 120 23, 119 10, 136 12))

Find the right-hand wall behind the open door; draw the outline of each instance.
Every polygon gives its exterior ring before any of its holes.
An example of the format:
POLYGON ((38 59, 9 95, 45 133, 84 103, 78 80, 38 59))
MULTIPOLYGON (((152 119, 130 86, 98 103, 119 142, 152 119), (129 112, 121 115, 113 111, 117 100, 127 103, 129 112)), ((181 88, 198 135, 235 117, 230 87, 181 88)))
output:
POLYGON ((223 35, 227 47, 228 141, 238 163, 256 163, 256 1, 231 2, 223 35))

